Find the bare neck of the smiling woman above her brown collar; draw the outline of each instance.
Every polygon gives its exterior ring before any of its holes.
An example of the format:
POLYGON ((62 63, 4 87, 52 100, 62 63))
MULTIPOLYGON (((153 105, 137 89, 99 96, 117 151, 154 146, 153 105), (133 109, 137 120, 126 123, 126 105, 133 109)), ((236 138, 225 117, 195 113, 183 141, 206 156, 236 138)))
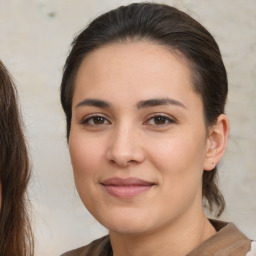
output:
POLYGON ((184 256, 216 233, 203 210, 146 234, 110 231, 113 256, 184 256))

